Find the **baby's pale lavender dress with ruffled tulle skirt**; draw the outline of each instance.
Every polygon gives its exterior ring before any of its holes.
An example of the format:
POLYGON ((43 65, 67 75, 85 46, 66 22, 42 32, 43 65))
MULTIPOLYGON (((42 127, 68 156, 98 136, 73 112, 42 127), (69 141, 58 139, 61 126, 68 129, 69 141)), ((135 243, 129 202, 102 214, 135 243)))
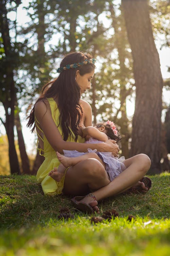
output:
MULTIPOLYGON (((103 141, 96 140, 94 138, 90 138, 88 141, 85 141, 84 143, 103 143, 103 141)), ((82 156, 86 153, 79 152, 77 150, 63 150, 64 155, 66 157, 77 157, 82 156)), ((91 148, 88 148, 87 153, 94 152, 96 153, 105 163, 106 172, 109 176, 109 179, 113 181, 119 174, 126 169, 124 165, 124 156, 118 158, 114 157, 111 152, 97 152, 97 150, 91 150, 91 148)))

